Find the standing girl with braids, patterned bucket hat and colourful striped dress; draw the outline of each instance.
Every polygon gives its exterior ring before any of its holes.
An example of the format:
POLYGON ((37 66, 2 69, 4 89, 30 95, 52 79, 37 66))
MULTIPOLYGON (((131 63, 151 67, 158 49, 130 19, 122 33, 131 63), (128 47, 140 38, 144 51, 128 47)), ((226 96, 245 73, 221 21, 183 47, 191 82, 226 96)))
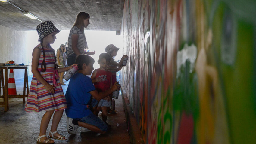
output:
POLYGON ((58 72, 67 71, 73 65, 65 68, 55 68, 55 52, 50 44, 54 43, 55 35, 60 31, 51 21, 42 22, 36 27, 36 30, 39 35, 38 41, 40 41, 40 44, 33 49, 32 53, 33 78, 25 110, 27 112, 45 111, 41 120, 37 143, 54 143, 54 140, 46 137, 46 129, 54 112, 49 137, 58 140, 67 139, 57 132, 63 111, 67 108, 67 102, 58 79, 58 72))

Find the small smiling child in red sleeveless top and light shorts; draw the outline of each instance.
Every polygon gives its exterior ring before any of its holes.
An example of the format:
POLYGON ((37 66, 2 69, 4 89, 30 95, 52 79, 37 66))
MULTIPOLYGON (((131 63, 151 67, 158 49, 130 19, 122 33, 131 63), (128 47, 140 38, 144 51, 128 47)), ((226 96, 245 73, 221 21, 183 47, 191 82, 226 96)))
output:
MULTIPOLYGON (((98 92, 103 92, 108 90, 112 85, 112 73, 107 70, 108 65, 110 63, 110 56, 107 53, 101 53, 99 55, 98 64, 100 68, 94 70, 92 72, 92 83, 95 86, 98 92)), ((111 98, 108 95, 107 97, 101 99, 98 103, 98 107, 95 109, 94 114, 98 116, 99 111, 102 111, 102 121, 107 125, 107 117, 108 117, 108 109, 111 106, 111 98)))

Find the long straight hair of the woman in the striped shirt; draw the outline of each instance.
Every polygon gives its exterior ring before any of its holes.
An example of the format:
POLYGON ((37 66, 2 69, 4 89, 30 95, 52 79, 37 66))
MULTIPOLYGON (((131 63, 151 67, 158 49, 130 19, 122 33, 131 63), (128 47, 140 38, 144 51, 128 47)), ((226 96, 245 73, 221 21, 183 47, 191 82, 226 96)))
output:
POLYGON ((85 37, 85 33, 84 33, 84 20, 89 18, 90 15, 86 12, 80 12, 77 14, 76 16, 76 21, 74 23, 73 26, 76 26, 78 29, 80 29, 80 31, 83 33, 84 38, 85 38, 85 49, 88 49, 88 45, 87 45, 87 41, 86 41, 86 37, 85 37))

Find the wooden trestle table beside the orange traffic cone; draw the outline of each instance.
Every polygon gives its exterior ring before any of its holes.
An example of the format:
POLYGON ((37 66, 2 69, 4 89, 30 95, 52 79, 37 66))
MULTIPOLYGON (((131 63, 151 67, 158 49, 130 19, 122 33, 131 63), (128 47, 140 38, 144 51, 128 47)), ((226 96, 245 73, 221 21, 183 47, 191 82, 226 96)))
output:
POLYGON ((0 105, 5 105, 5 112, 9 110, 9 98, 23 98, 23 103, 25 103, 25 97, 28 95, 28 73, 27 73, 27 65, 25 66, 17 66, 17 65, 5 65, 0 66, 0 93, 1 88, 3 89, 3 97, 4 102, 0 102, 0 105), (8 69, 24 69, 24 86, 23 86, 23 95, 8 95, 8 69), (5 70, 5 82, 4 82, 4 72, 5 70), (3 85, 1 87, 1 84, 3 85), (26 94, 27 88, 27 95, 26 94))

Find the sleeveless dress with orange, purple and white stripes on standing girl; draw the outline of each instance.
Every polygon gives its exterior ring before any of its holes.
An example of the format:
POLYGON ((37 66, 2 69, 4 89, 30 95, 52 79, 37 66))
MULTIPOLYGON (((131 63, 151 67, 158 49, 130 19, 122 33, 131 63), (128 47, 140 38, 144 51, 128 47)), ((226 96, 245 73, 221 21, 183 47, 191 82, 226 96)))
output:
POLYGON ((43 61, 43 50, 41 44, 37 45, 41 49, 41 55, 38 63, 38 71, 42 75, 42 77, 50 84, 54 85, 55 93, 49 93, 44 85, 39 82, 35 76, 33 76, 30 90, 27 98, 27 102, 25 105, 25 110, 27 112, 40 112, 47 110, 63 110, 67 108, 67 102, 65 99, 65 95, 63 93, 60 80, 57 75, 54 74, 55 67, 55 52, 52 48, 44 48, 45 50, 45 63, 46 63, 46 71, 41 72, 41 65, 43 61), (54 79, 56 79, 56 84, 54 83, 54 79))

